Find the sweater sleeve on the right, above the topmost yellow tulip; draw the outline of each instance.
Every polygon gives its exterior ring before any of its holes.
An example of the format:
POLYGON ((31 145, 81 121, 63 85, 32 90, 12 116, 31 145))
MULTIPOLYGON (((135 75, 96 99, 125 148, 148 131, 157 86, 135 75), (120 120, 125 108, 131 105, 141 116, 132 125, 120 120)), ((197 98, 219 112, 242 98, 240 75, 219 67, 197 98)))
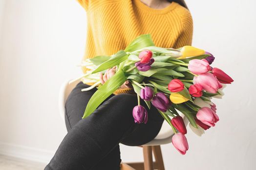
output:
POLYGON ((180 47, 192 45, 192 36, 193 36, 193 20, 189 10, 185 11, 185 14, 182 15, 182 27, 183 31, 176 40, 173 48, 178 49, 180 47))

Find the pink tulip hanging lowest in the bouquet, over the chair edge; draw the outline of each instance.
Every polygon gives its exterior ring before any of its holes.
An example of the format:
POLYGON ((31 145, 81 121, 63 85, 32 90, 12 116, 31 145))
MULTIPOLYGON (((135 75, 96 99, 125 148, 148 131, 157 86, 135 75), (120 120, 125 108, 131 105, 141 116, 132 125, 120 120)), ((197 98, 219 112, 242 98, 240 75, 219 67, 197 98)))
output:
POLYGON ((185 154, 189 150, 188 140, 185 135, 177 133, 172 136, 171 140, 172 145, 179 151, 179 153, 185 154))

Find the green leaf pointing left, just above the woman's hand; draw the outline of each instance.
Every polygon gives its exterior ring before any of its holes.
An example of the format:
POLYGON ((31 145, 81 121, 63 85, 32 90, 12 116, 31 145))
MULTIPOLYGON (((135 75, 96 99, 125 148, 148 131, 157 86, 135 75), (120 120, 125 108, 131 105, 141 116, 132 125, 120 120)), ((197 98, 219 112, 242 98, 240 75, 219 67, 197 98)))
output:
POLYGON ((125 51, 118 51, 116 54, 112 55, 107 61, 99 65, 97 68, 95 68, 91 73, 100 72, 103 70, 106 70, 107 68, 112 68, 121 62, 127 60, 128 55, 125 51))

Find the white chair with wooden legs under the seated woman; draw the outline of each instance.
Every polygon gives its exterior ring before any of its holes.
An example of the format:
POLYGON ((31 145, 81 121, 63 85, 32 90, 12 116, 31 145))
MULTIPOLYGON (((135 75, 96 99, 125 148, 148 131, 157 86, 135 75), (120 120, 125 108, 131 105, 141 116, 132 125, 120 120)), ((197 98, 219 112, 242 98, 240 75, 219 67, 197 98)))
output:
MULTIPOLYGON (((69 81, 63 83, 59 93, 59 109, 63 120, 66 99, 71 90, 80 82, 80 80, 77 80, 71 84, 68 84, 68 82, 69 81)), ((187 125, 189 122, 188 119, 182 113, 179 112, 179 114, 183 117, 184 122, 187 125)), ((164 121, 158 135, 150 142, 140 146, 143 148, 144 162, 122 163, 121 170, 164 170, 165 168, 160 145, 171 143, 171 138, 173 135, 174 133, 170 125, 164 121), (154 153, 155 162, 152 160, 152 152, 154 153)))

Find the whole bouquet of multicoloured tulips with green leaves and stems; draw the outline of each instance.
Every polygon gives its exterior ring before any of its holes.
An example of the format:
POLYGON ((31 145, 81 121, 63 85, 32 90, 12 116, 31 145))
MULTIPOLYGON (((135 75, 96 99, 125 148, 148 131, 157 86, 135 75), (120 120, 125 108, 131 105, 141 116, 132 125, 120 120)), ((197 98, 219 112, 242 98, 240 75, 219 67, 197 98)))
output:
POLYGON ((192 46, 156 47, 150 34, 140 35, 124 51, 86 59, 82 67, 89 69, 78 79, 95 84, 82 91, 95 86, 98 89, 88 102, 83 119, 128 80, 138 97, 138 105, 132 110, 135 123, 148 121, 147 110, 140 105, 140 100, 144 100, 149 109, 152 104, 170 124, 174 132, 173 146, 185 154, 189 149, 187 129, 179 113, 189 120, 192 131, 201 136, 219 120, 211 99, 221 98, 225 84, 233 82, 221 69, 210 66, 213 60, 210 52, 192 46), (116 73, 102 85, 99 73, 114 66, 117 66, 116 73))

